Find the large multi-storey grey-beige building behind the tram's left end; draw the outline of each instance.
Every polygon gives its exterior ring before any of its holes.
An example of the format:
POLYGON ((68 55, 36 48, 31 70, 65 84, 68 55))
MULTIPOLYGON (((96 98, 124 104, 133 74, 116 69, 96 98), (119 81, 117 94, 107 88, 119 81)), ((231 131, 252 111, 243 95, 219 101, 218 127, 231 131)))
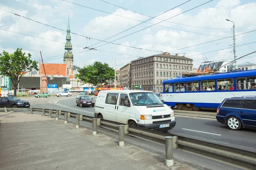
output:
POLYGON ((160 92, 165 79, 193 72, 193 60, 185 56, 157 54, 131 62, 132 89, 160 92))

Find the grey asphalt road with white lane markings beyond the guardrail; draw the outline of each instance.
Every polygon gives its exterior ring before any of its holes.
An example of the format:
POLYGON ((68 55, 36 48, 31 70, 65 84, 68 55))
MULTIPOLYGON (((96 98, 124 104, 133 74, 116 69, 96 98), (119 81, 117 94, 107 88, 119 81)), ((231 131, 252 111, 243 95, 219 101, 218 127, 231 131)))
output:
MULTIPOLYGON (((96 98, 93 96, 93 98, 96 98)), ((94 108, 80 108, 76 106, 76 98, 50 97, 49 99, 29 98, 34 108, 60 109, 75 112, 87 116, 94 116, 94 108)), ((210 111, 212 113, 212 111, 210 111)), ((215 119, 192 118, 188 116, 175 116, 175 127, 168 133, 198 139, 202 141, 222 144, 256 153, 256 130, 242 129, 239 131, 229 130, 228 127, 217 122, 215 119)))

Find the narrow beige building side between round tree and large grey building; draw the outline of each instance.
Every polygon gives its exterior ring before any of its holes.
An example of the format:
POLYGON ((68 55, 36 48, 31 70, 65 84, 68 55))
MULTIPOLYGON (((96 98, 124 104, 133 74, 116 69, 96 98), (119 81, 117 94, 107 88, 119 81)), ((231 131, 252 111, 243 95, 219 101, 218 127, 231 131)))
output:
POLYGON ((131 89, 131 63, 126 64, 120 68, 120 85, 125 89, 131 89))

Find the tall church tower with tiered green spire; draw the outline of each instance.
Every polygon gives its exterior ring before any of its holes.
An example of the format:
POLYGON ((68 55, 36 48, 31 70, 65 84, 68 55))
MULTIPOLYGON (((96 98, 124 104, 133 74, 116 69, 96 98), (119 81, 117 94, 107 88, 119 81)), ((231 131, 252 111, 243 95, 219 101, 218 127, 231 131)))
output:
POLYGON ((69 17, 68 17, 68 21, 67 21, 67 35, 66 35, 65 54, 64 54, 63 61, 65 64, 67 64, 68 75, 73 75, 74 56, 72 53, 69 17))

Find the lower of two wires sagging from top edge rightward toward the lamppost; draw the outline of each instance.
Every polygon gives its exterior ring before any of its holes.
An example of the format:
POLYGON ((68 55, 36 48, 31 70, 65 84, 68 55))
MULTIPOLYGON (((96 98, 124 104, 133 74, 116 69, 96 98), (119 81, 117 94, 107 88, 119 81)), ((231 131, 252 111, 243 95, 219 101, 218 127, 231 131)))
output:
MULTIPOLYGON (((90 8, 90 7, 88 7, 88 6, 84 6, 84 5, 81 5, 81 4, 78 4, 78 3, 72 3, 72 2, 69 2, 69 1, 67 1, 67 0, 62 0, 62 1, 65 1, 65 2, 67 2, 67 3, 74 4, 74 5, 77 5, 77 6, 82 6, 82 7, 84 7, 84 8, 89 8, 89 9, 92 9, 92 10, 96 10, 96 11, 104 12, 104 13, 106 13, 106 14, 111 14, 111 15, 115 15, 115 16, 118 16, 118 17, 123 17, 123 18, 126 18, 126 19, 139 21, 139 22, 142 22, 142 23, 144 22, 144 21, 141 21, 141 20, 136 20, 136 19, 133 19, 133 18, 124 17, 124 16, 121 16, 121 15, 112 14, 112 13, 110 13, 110 12, 102 11, 102 10, 99 10, 99 9, 90 8)), ((207 2, 207 3, 208 3, 208 2, 207 2)), ((166 21, 166 20, 163 20, 163 21, 166 21)), ((157 24, 148 23, 148 22, 145 22, 145 23, 150 24, 150 25, 157 25, 157 24)), ((225 36, 220 36, 220 35, 211 35, 211 34, 203 34, 203 33, 198 33, 198 32, 193 32, 193 31, 186 31, 186 30, 181 30, 181 29, 171 28, 171 27, 161 26, 161 25, 157 25, 157 26, 160 26, 160 27, 163 27, 163 28, 175 29, 175 30, 179 30, 179 31, 190 32, 190 33, 194 33, 194 34, 209 35, 209 36, 215 36, 215 37, 225 37, 225 36)))

